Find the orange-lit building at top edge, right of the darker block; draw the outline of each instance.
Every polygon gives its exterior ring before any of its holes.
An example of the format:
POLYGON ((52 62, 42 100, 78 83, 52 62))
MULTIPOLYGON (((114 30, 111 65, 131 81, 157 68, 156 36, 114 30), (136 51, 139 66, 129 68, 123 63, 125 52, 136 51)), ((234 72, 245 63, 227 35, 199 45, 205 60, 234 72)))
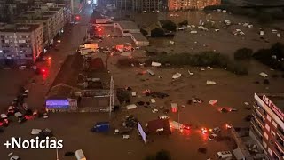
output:
POLYGON ((221 4, 221 0, 168 0, 169 11, 176 10, 201 10, 209 5, 221 4))

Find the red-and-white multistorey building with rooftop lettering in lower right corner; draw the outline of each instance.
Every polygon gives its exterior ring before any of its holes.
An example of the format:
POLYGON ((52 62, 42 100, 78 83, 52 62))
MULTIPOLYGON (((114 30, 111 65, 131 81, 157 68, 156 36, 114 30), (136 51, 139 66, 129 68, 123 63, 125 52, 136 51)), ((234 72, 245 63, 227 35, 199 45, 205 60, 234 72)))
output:
POLYGON ((284 159, 284 93, 254 97, 249 135, 271 159, 284 159))

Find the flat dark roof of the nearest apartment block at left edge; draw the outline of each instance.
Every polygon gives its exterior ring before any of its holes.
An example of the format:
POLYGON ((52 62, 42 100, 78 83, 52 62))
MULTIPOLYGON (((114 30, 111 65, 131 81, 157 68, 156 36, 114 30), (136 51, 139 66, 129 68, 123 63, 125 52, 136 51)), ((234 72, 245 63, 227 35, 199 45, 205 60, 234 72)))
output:
POLYGON ((0 32, 31 32, 39 27, 38 24, 2 24, 0 32))

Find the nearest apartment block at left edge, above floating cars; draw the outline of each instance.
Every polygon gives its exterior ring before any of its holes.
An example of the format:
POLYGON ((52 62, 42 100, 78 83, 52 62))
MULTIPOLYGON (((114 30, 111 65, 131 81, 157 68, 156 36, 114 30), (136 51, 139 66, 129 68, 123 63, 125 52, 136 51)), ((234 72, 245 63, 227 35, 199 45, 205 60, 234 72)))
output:
POLYGON ((0 25, 0 60, 7 65, 34 62, 43 52, 40 24, 0 25))

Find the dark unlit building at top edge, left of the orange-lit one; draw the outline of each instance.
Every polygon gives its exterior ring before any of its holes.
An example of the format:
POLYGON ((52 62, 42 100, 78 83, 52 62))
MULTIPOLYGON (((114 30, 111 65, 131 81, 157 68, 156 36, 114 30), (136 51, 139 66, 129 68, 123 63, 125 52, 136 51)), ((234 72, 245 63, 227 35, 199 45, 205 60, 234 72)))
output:
POLYGON ((164 9, 162 0, 114 0, 117 9, 130 12, 157 12, 164 9))

